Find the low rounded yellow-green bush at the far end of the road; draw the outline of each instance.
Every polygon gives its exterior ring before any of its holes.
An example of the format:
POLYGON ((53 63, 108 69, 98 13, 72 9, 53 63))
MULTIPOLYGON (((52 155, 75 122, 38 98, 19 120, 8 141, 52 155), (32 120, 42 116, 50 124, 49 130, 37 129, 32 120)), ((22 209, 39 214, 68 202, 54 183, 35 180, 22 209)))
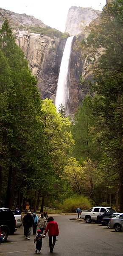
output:
POLYGON ((64 212, 76 212, 76 209, 80 207, 81 210, 91 208, 91 202, 84 196, 72 196, 67 198, 59 208, 64 209, 64 212))

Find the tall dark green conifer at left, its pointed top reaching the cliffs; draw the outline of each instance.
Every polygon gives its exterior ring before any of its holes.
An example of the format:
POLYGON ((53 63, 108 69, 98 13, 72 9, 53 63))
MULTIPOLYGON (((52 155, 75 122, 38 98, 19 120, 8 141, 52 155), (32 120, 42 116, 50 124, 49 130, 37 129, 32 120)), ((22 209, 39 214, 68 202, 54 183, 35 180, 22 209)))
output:
MULTIPOLYGON (((18 172, 20 170, 22 172, 24 166, 26 169, 30 166, 29 160, 31 165, 36 163, 33 151, 36 151, 36 132, 37 127, 39 128, 37 115, 40 111, 41 100, 36 87, 36 79, 28 69, 22 50, 15 43, 7 20, 0 30, 0 51, 7 62, 6 74, 8 75, 8 82, 5 83, 6 79, 1 73, 3 88, 1 100, 4 101, 5 111, 1 114, 0 137, 2 147, 6 148, 1 166, 5 172, 6 163, 5 177, 8 176, 6 207, 11 207, 18 172)), ((2 64, 2 59, 0 64, 2 64)), ((40 132, 43 134, 41 122, 40 132)))

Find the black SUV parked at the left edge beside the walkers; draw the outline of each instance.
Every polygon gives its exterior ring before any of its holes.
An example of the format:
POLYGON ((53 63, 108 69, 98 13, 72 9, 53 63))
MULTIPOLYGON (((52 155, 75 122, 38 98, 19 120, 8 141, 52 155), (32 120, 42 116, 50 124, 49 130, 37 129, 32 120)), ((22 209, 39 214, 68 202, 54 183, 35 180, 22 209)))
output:
POLYGON ((8 208, 0 208, 0 229, 3 241, 7 240, 8 235, 16 231, 16 220, 13 212, 8 208))

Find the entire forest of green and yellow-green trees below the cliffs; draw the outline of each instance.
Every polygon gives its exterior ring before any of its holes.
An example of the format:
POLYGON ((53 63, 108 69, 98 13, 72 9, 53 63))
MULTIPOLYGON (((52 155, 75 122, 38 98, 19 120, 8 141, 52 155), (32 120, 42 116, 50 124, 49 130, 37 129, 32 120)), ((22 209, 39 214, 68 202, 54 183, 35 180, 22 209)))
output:
POLYGON ((52 100, 41 100, 37 81, 4 20, 1 206, 25 209, 28 201, 34 211, 39 206, 43 211, 44 205, 73 209, 72 200, 82 198, 85 208, 113 205, 123 211, 123 1, 106 4, 89 30, 78 47, 92 79, 86 81, 89 92, 71 121, 63 105, 57 112, 52 100))

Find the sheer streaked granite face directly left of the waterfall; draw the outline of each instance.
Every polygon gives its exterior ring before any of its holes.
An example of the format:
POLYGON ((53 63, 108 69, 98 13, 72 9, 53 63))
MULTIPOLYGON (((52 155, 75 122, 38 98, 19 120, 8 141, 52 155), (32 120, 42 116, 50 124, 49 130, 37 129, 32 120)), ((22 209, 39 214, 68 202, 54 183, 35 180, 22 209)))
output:
POLYGON ((66 39, 50 38, 28 31, 14 31, 16 43, 25 53, 42 99, 55 101, 58 74, 66 39))

